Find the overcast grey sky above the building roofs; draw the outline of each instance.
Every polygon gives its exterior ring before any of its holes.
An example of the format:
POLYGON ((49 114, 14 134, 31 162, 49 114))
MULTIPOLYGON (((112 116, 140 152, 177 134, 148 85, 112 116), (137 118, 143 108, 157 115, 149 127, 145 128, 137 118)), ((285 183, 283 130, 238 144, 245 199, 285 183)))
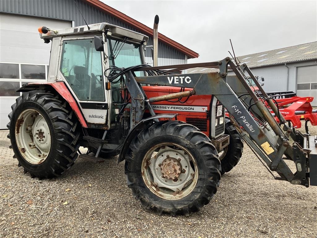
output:
POLYGON ((102 2, 197 52, 189 63, 223 59, 317 41, 317 1, 102 2))

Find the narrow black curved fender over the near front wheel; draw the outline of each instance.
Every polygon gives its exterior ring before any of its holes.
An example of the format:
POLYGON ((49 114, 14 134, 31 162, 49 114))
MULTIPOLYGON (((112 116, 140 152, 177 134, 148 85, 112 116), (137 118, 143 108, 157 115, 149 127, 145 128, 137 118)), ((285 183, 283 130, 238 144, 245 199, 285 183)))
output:
POLYGON ((159 119, 159 118, 174 118, 176 119, 176 116, 178 115, 178 113, 166 113, 166 114, 157 114, 151 117, 148 117, 146 119, 143 119, 142 121, 140 121, 138 124, 135 125, 135 127, 133 127, 128 135, 126 136, 126 139, 123 143, 122 149, 120 151, 120 155, 119 155, 119 159, 118 159, 118 163, 120 163, 121 161, 124 161, 126 158, 126 152, 129 149, 129 146, 132 142, 132 140, 135 138, 135 136, 138 136, 139 132, 148 124, 150 124, 151 122, 153 122, 155 119, 159 119))

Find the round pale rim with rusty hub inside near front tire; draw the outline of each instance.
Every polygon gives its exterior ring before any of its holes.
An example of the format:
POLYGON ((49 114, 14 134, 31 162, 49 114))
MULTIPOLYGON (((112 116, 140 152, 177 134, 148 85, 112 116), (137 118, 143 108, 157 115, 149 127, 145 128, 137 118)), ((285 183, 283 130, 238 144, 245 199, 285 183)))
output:
POLYGON ((142 161, 142 178, 157 196, 178 200, 189 195, 198 181, 195 158, 183 146, 160 143, 153 146, 142 161))

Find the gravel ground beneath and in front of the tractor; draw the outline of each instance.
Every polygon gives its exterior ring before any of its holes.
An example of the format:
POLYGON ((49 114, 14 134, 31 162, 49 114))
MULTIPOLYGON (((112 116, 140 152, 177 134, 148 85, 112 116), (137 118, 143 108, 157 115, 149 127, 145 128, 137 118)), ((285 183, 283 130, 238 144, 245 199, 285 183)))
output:
POLYGON ((247 147, 211 202, 189 217, 142 208, 116 159, 78 160, 41 181, 22 167, 0 167, 0 236, 317 237, 317 187, 274 180, 247 147))

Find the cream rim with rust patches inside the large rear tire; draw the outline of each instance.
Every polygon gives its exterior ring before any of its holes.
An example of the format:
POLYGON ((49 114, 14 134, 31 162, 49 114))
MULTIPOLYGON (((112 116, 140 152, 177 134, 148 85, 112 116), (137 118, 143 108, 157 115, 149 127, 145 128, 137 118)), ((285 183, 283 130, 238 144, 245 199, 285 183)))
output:
POLYGON ((18 117, 16 144, 23 158, 31 164, 41 164, 49 155, 51 133, 44 117, 36 109, 26 109, 18 117))

